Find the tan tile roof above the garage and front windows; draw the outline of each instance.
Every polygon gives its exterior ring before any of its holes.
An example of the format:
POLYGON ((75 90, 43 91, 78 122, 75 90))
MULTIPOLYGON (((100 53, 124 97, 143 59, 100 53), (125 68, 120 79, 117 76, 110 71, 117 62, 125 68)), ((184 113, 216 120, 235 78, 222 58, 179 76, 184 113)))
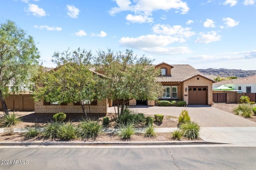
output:
POLYGON ((158 82, 184 82, 190 78, 195 76, 202 76, 212 82, 214 80, 207 78, 202 74, 200 71, 196 70, 194 67, 188 64, 174 64, 172 65, 173 68, 171 69, 171 76, 159 76, 157 78, 158 82))

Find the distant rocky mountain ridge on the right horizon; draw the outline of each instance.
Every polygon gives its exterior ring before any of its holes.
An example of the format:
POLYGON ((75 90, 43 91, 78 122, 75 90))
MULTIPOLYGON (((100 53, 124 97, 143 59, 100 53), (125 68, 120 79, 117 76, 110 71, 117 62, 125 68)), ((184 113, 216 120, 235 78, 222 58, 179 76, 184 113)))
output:
POLYGON ((252 76, 256 74, 256 70, 238 70, 238 69, 214 69, 214 68, 207 68, 207 69, 197 69, 198 71, 202 72, 205 76, 209 78, 214 78, 217 76, 220 77, 231 77, 237 76, 238 78, 244 78, 248 76, 252 76))

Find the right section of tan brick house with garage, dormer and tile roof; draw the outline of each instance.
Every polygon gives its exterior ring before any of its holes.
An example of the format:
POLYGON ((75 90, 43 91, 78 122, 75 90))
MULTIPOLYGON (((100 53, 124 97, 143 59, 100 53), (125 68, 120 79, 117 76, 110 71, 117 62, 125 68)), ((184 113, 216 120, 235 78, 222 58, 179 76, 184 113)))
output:
MULTIPOLYGON (((159 100, 186 101, 188 105, 212 105, 212 83, 214 80, 207 78, 188 64, 160 63, 155 66, 161 69, 157 82, 163 86, 163 96, 159 100)), ((131 100, 129 105, 136 106, 142 101, 131 100)), ((155 101, 147 101, 148 106, 154 106, 155 101)))

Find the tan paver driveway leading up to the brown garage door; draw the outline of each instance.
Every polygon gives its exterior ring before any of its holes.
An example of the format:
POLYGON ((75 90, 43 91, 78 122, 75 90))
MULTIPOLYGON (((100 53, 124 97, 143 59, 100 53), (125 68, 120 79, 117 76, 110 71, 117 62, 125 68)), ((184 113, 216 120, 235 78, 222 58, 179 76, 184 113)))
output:
MULTIPOLYGON (((145 115, 171 115, 178 117, 184 107, 160 107, 160 106, 131 106, 145 115)), ((201 127, 256 127, 256 123, 216 109, 211 106, 188 106, 186 108, 192 121, 199 123, 201 127)), ((108 112, 114 112, 114 107, 109 107, 108 112)))

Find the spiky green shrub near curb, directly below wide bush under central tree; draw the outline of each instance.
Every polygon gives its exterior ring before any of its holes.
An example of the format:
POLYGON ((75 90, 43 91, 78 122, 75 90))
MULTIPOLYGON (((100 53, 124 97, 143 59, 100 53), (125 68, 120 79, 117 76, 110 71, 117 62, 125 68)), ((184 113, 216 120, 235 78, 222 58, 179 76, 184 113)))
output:
POLYGON ((135 133, 133 122, 120 123, 118 126, 120 128, 119 137, 122 140, 129 140, 135 133))

